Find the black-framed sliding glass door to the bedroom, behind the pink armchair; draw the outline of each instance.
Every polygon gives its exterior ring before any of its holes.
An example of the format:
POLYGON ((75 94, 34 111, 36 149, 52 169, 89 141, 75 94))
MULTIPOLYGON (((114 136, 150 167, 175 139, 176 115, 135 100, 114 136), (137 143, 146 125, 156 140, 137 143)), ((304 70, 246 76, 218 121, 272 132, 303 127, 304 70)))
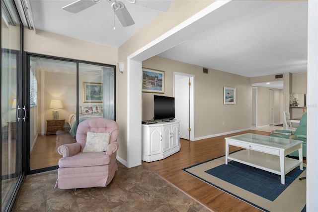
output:
POLYGON ((115 119, 115 66, 28 54, 30 173, 58 168, 79 122, 115 119))

